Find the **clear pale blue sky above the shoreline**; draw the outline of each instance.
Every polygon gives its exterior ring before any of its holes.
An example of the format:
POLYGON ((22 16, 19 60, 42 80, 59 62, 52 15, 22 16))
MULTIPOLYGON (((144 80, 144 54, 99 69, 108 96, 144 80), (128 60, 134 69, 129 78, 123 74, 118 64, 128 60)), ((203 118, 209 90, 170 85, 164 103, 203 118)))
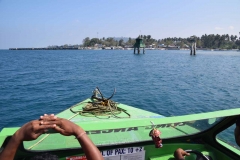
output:
POLYGON ((239 32, 240 0, 0 0, 0 49, 239 32))

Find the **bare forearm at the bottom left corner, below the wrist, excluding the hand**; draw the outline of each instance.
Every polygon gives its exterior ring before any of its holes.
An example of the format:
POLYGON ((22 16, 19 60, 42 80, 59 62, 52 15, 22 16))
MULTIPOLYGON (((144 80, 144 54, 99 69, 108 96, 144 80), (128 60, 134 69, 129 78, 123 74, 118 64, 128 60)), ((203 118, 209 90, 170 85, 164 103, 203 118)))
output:
POLYGON ((7 146, 0 153, 0 160, 13 160, 20 143, 21 141, 19 141, 16 134, 14 134, 7 146))

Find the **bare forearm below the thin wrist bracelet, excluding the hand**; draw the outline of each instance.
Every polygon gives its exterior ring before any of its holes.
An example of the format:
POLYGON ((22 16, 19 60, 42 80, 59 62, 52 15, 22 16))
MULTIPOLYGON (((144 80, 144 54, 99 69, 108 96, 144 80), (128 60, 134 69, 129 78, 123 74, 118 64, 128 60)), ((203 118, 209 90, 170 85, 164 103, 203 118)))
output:
POLYGON ((88 160, 103 160, 101 152, 86 134, 79 137, 78 141, 88 160))

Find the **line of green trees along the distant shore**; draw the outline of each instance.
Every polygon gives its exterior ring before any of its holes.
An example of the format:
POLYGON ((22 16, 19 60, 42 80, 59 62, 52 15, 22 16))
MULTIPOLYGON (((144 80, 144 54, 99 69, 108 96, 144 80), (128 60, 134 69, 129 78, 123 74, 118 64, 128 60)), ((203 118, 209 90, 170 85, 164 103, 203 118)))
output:
MULTIPOLYGON (((141 35, 143 42, 146 47, 170 47, 179 46, 181 48, 187 48, 191 42, 190 37, 188 38, 177 38, 168 37, 163 39, 154 39, 151 35, 141 35)), ((228 34, 205 34, 201 37, 195 37, 197 48, 209 48, 209 49, 240 49, 240 39, 236 35, 228 34)), ((123 39, 117 40, 113 37, 108 38, 92 38, 86 37, 83 39, 83 47, 94 47, 97 45, 102 45, 106 47, 111 46, 121 46, 121 47, 132 47, 135 43, 135 38, 129 37, 127 41, 123 39)))

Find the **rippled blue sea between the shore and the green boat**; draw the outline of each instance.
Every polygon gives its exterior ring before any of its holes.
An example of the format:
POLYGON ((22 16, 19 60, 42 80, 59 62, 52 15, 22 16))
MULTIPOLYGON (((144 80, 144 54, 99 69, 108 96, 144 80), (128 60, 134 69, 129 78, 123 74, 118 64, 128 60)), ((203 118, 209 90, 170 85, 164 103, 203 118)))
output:
POLYGON ((0 130, 89 98, 98 86, 114 101, 165 116, 240 107, 240 52, 0 50, 0 130))

